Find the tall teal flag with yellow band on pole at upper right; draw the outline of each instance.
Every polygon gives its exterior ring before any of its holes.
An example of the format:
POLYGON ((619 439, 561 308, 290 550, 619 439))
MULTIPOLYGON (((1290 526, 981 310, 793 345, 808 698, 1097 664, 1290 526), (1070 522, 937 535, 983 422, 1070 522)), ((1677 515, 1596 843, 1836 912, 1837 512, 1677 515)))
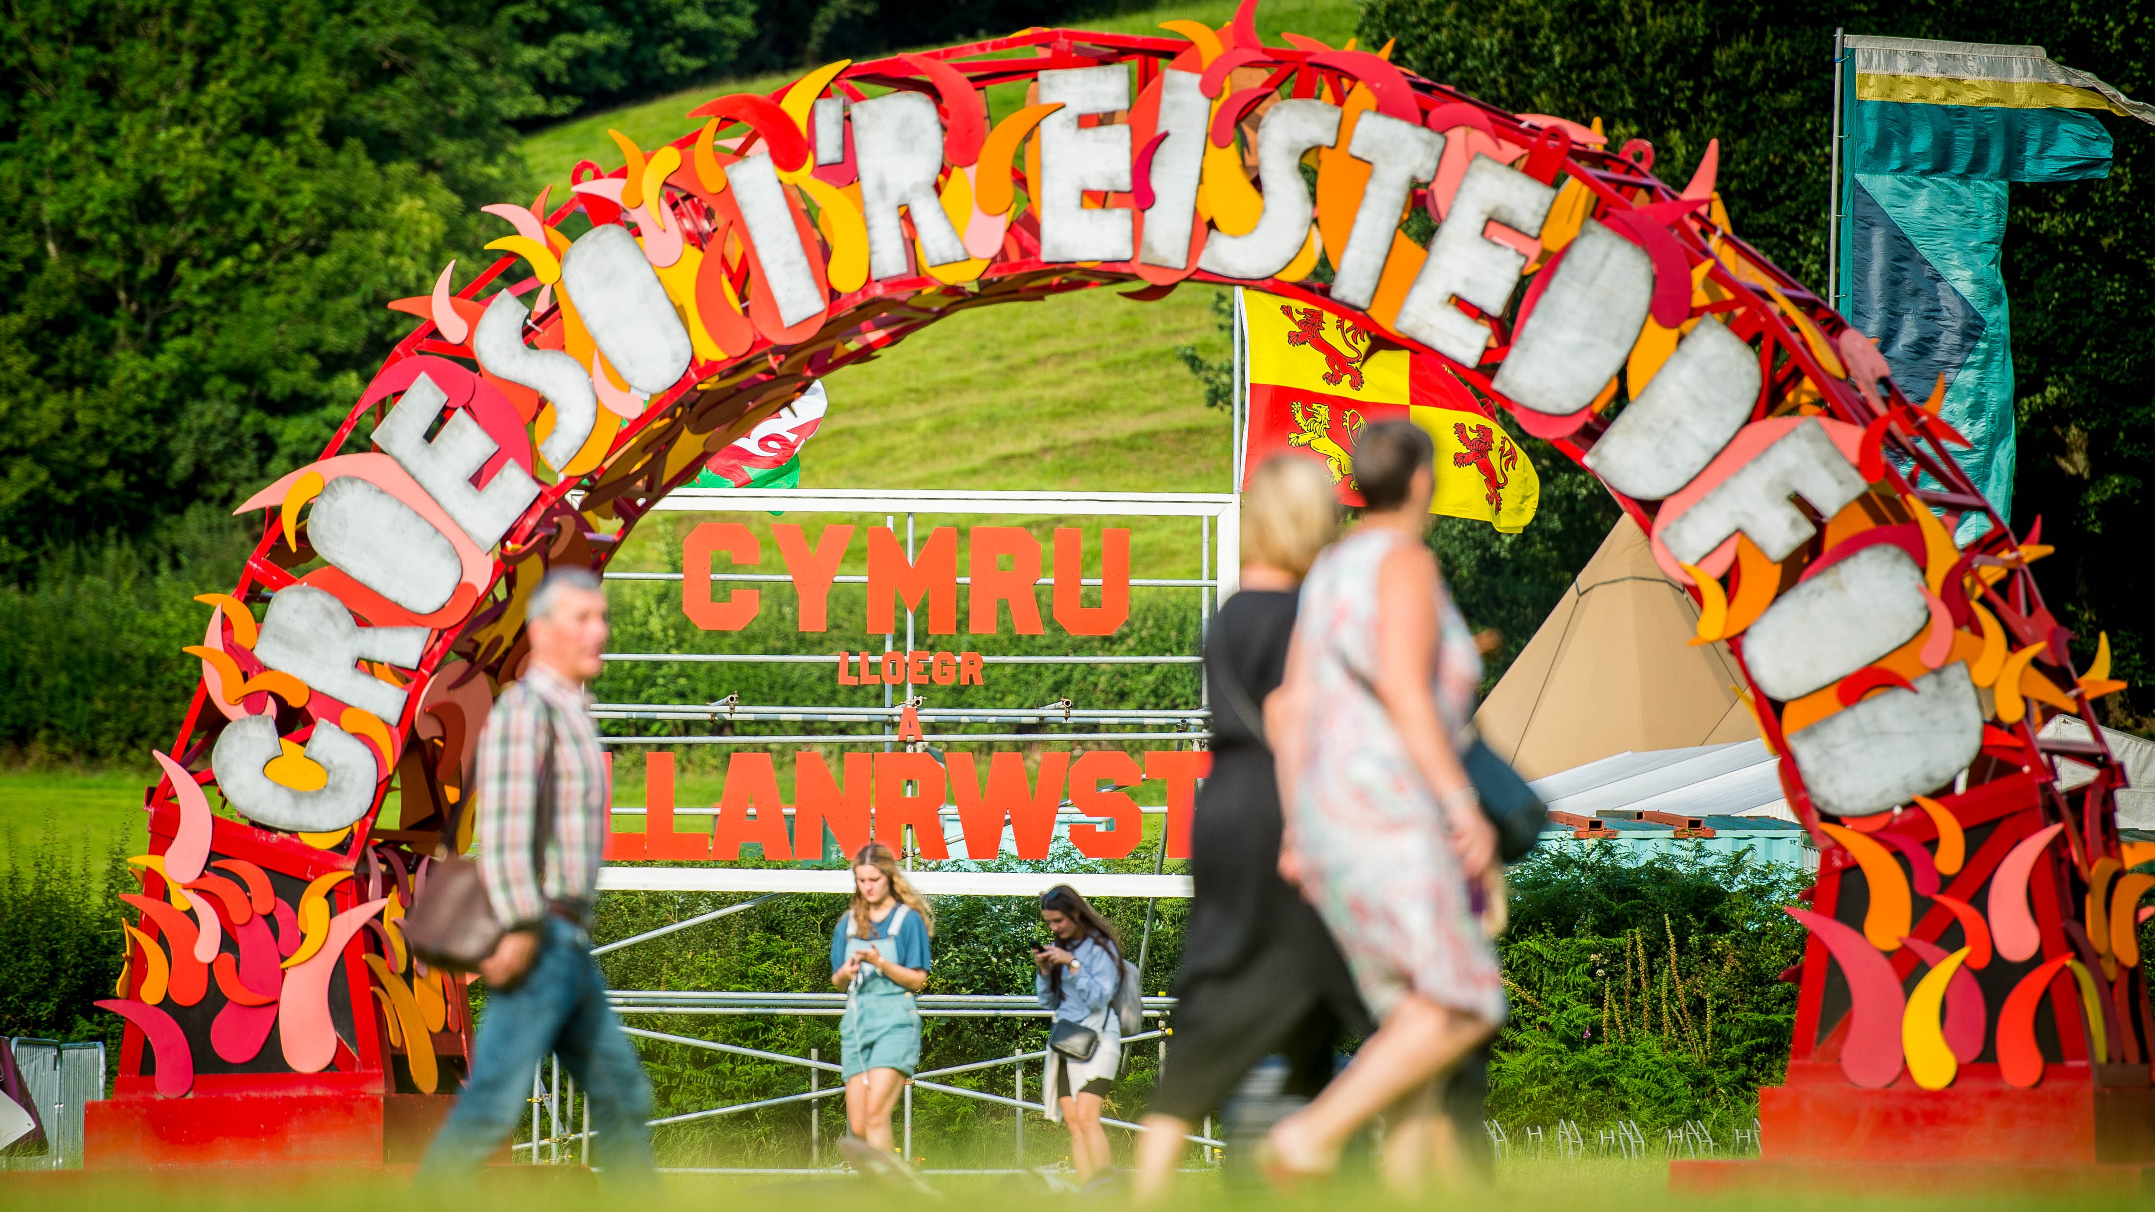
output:
MULTIPOLYGON (((1840 123, 1843 315, 1894 382, 1927 399, 1946 380, 1944 418, 1968 479, 2013 515, 2013 326, 2004 287, 2006 188, 2110 175, 2097 110, 2155 123, 2039 45, 1849 37, 1840 123)), ((1987 522, 1961 524, 1965 543, 1987 522)))

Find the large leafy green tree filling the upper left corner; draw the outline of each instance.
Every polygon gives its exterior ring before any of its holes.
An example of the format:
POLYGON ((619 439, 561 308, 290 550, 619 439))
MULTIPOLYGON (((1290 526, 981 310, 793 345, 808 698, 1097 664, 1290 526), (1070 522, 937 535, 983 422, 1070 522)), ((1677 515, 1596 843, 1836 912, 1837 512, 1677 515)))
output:
MULTIPOLYGON (((0 576, 315 457, 515 196, 489 4, 13 4, 0 39, 0 576), (483 218, 483 216, 478 216, 483 218)), ((498 224, 496 224, 498 226, 498 224)))

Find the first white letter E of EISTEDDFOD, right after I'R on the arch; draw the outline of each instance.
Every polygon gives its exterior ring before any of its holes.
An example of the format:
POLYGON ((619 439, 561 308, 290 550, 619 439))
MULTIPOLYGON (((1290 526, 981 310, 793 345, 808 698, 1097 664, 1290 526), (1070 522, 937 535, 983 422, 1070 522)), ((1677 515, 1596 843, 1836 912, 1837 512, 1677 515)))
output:
MULTIPOLYGON (((1041 73, 1041 261, 1129 261, 1131 214, 1086 209, 1086 190, 1129 190, 1129 127, 1080 127, 1080 114, 1129 108, 1129 69, 1071 67, 1041 73)), ((1187 231, 1183 233, 1187 250, 1187 231)))

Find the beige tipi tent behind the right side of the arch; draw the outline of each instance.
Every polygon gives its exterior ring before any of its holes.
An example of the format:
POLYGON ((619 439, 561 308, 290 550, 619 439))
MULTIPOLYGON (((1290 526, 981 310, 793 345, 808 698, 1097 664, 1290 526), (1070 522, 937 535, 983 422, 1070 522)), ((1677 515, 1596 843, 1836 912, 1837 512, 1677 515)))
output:
POLYGON ((1756 740, 1724 645, 1690 647, 1698 606, 1627 513, 1474 714, 1526 779, 1618 753, 1756 740))

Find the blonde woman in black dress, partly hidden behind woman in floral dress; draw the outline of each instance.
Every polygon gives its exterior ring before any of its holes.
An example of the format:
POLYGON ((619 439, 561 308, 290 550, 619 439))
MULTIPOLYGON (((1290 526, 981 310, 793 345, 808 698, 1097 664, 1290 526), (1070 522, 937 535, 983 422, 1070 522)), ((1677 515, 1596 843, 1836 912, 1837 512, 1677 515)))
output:
POLYGON ((1263 731, 1265 697, 1287 673, 1295 587, 1336 535, 1321 464, 1280 455, 1250 477, 1241 591, 1220 606, 1205 649, 1213 768, 1192 824, 1196 899, 1168 1068, 1138 1145, 1140 1201, 1166 1193, 1183 1137, 1261 1059, 1284 1052, 1289 1093, 1315 1096, 1332 1076, 1334 1039, 1373 1029, 1325 923, 1280 880, 1280 787, 1263 731))

